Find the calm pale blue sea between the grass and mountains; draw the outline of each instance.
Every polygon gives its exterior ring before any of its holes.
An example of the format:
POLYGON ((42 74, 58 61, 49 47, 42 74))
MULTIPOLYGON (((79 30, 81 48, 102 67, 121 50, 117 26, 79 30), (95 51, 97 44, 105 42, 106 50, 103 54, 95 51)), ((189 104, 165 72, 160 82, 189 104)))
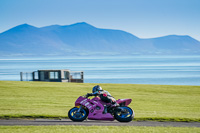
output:
POLYGON ((0 80, 46 69, 84 71, 85 83, 200 85, 200 56, 0 58, 0 80))

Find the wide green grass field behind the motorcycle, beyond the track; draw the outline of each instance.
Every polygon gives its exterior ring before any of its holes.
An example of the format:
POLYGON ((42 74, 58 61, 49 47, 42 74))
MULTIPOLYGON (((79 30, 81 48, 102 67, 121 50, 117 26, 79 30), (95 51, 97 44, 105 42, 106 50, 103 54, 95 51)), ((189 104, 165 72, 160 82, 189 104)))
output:
MULTIPOLYGON (((0 118, 67 117, 96 84, 0 81, 0 118)), ((199 121, 200 86, 100 84, 116 99, 132 98, 136 120, 199 121)))

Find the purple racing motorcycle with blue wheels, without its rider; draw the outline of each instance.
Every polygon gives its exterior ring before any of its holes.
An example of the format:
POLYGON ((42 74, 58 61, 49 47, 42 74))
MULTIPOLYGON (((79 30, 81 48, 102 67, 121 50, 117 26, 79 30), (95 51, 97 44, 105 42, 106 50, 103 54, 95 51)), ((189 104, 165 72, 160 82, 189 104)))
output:
POLYGON ((86 95, 80 96, 75 107, 69 110, 68 117, 72 121, 81 122, 87 117, 89 120, 117 120, 119 122, 130 122, 135 116, 134 111, 128 107, 132 99, 118 99, 119 106, 103 102, 99 97, 89 99, 86 95))

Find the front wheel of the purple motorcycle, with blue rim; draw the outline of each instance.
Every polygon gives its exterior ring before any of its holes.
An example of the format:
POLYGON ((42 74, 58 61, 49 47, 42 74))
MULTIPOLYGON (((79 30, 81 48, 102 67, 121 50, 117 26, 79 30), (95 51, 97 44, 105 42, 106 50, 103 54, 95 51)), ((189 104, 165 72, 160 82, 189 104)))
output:
POLYGON ((84 121, 87 116, 88 116, 88 113, 85 109, 81 109, 79 112, 78 112, 79 108, 77 107, 74 107, 72 109, 69 110, 68 112, 68 117, 72 120, 72 121, 84 121))

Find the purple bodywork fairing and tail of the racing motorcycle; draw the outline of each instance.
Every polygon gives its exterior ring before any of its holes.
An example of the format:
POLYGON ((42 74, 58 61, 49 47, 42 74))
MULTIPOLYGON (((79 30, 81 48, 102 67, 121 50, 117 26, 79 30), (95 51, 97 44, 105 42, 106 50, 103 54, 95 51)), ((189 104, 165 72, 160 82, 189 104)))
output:
MULTIPOLYGON (((119 99, 116 102, 117 103, 125 102, 125 105, 128 105, 131 103, 131 99, 119 99)), ((115 118, 110 113, 103 114, 103 111, 104 111, 103 105, 106 105, 106 104, 107 103, 101 101, 99 97, 88 99, 88 98, 80 96, 75 102, 75 106, 83 105, 86 108, 88 108, 89 110, 88 119, 113 121, 115 118)))

